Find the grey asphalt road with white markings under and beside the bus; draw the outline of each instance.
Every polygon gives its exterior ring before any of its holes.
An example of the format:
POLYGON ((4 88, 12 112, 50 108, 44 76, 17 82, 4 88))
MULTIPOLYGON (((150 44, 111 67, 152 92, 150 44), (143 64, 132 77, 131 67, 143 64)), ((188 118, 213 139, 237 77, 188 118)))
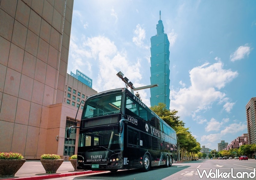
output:
MULTIPOLYGON (((256 160, 249 159, 248 161, 239 161, 234 159, 227 160, 199 160, 199 161, 188 161, 184 163, 173 164, 172 167, 154 167, 150 171, 144 173, 140 170, 119 170, 116 173, 111 173, 109 171, 104 173, 96 173, 89 176, 69 176, 60 179, 65 180, 173 180, 173 179, 247 179, 247 172, 251 175, 249 179, 256 179, 252 177, 254 174, 254 168, 256 168, 256 160), (233 169, 231 169, 233 168, 233 169), (199 173, 198 173, 199 171, 199 173), (202 174, 204 172, 204 174, 202 174), (211 172, 211 176, 207 178, 208 173, 211 172), (226 174, 225 174, 226 172, 226 174), (240 172, 240 173, 239 173, 240 172), (245 177, 242 177, 244 172, 245 177), (229 174, 228 174, 229 173, 229 174), (250 174, 251 173, 251 174, 250 174), (232 175, 233 177, 232 177, 232 175), (201 177, 200 177, 201 176, 201 177), (225 178, 229 177, 229 178, 225 178), (241 178, 239 178, 241 177, 241 178)), ((55 179, 58 180, 58 179, 55 179)))

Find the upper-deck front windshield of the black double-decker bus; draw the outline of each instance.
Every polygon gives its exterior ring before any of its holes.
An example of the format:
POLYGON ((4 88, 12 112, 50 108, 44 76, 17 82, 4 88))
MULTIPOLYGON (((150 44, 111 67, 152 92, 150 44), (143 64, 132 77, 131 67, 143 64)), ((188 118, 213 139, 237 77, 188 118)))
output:
POLYGON ((120 113, 122 93, 86 100, 83 119, 120 113))

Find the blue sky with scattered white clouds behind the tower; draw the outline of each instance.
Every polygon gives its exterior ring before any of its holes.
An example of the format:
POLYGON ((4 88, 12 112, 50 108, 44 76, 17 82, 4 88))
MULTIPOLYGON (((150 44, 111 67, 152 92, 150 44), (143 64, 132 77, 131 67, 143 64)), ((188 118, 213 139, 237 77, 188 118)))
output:
MULTIPOLYGON (((67 72, 92 88, 150 84, 150 38, 170 41, 170 109, 210 149, 247 133, 245 105, 256 96, 256 1, 75 0, 67 72)), ((149 89, 140 90, 150 106, 149 89)))

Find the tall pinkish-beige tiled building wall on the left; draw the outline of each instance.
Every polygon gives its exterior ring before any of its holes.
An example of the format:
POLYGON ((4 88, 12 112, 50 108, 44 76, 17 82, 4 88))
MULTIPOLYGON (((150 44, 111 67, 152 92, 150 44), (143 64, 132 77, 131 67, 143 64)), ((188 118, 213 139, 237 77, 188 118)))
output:
POLYGON ((72 10, 73 0, 0 0, 0 152, 45 152, 49 106, 65 98, 72 10))

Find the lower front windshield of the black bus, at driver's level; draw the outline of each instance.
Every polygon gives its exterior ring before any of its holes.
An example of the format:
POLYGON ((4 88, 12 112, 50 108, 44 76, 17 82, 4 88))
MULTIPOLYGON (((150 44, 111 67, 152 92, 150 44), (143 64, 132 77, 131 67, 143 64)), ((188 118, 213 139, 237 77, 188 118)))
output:
POLYGON ((112 145, 119 144, 119 137, 117 126, 93 128, 79 134, 78 146, 88 148, 92 148, 92 146, 104 146, 110 149, 112 145))

